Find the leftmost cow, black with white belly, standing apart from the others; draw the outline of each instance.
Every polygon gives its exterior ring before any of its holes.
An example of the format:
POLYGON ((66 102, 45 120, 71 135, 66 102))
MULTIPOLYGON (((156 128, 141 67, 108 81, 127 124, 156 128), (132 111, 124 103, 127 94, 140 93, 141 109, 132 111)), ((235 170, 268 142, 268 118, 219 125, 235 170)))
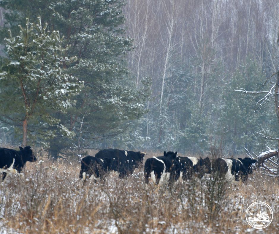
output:
POLYGON ((19 147, 18 150, 0 148, 0 173, 3 173, 2 180, 7 173, 20 173, 26 162, 36 162, 37 159, 30 146, 19 147))

